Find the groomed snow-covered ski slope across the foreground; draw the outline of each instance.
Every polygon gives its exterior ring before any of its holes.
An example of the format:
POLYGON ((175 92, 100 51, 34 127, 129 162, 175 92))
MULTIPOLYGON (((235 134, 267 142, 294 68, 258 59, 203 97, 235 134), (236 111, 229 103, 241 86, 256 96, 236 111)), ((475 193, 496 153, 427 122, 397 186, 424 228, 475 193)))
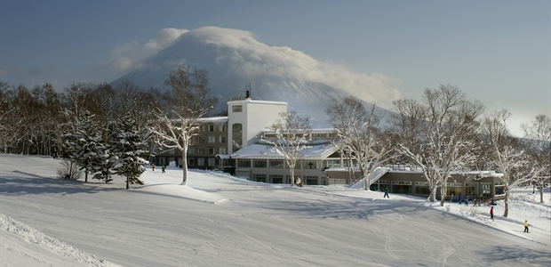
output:
POLYGON ((60 160, 0 154, 2 266, 550 266, 551 208, 515 190, 509 216, 425 198, 148 169, 66 181, 60 160), (531 224, 523 232, 523 221, 531 224))

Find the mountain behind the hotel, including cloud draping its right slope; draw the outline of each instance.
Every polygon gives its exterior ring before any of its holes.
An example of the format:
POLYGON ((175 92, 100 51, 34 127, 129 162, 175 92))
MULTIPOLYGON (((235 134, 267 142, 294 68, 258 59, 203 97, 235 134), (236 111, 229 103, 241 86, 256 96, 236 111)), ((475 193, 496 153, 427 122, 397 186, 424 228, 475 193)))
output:
MULTIPOLYGON (((181 64, 209 71, 211 93, 219 98, 215 113, 227 109, 229 97, 244 96, 245 91, 251 90, 252 99, 286 101, 289 110, 296 110, 301 117, 312 117, 314 127, 328 126, 325 109, 331 101, 350 95, 336 85, 369 87, 364 81, 373 79, 316 61, 289 47, 262 44, 244 30, 204 27, 181 34, 172 45, 148 57, 140 69, 111 85, 129 80, 142 88, 168 89, 164 80, 181 64)), ((365 99, 371 94, 355 96, 365 99)))

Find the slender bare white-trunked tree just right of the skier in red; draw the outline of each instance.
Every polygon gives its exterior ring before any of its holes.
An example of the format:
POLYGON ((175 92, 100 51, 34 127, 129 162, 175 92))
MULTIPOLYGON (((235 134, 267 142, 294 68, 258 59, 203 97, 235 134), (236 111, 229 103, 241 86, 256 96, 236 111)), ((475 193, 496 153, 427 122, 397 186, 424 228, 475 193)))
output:
POLYGON ((491 163, 501 174, 499 179, 504 184, 504 217, 509 211, 509 193, 523 184, 531 182, 534 168, 530 157, 525 153, 522 142, 509 134, 507 118, 511 113, 507 109, 492 112, 483 122, 483 137, 491 143, 491 163))

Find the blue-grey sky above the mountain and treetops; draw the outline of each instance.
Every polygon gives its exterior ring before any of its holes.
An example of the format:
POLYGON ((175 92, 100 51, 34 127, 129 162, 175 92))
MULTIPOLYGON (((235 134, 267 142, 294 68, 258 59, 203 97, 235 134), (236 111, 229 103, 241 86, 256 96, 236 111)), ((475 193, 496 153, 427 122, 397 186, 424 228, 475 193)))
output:
POLYGON ((59 91, 111 82, 94 69, 163 28, 252 32, 317 61, 382 73, 403 97, 458 85, 511 130, 551 114, 550 1, 5 1, 0 79, 59 91))

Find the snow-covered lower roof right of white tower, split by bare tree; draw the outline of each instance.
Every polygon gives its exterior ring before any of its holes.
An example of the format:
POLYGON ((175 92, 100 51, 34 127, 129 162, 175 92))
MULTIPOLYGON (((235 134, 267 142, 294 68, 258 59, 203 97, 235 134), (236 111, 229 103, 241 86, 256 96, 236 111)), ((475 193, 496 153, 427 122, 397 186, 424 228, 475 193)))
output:
MULTIPOLYGON (((339 150, 331 143, 317 144, 309 146, 305 150, 301 150, 303 159, 325 159, 331 156, 332 153, 339 150)), ((275 148, 264 144, 253 144, 241 150, 237 150, 231 155, 231 158, 283 158, 279 155, 275 148)))

